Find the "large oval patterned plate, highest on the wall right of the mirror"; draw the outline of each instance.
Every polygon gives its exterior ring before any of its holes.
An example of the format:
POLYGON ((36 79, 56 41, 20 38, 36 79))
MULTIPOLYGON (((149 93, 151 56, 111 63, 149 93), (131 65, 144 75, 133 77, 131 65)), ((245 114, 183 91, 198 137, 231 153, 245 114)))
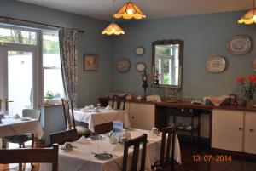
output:
POLYGON ((246 36, 236 36, 227 44, 231 54, 247 54, 251 49, 251 40, 246 36))

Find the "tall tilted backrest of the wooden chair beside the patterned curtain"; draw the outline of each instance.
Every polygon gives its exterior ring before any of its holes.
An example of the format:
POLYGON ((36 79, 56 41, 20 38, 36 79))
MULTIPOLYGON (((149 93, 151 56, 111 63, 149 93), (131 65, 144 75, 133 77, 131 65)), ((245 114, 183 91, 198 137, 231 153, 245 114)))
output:
POLYGON ((62 101, 62 106, 63 106, 63 113, 64 113, 64 118, 65 118, 65 123, 67 129, 72 129, 76 127, 75 125, 75 120, 73 117, 73 104, 72 101, 66 100, 66 99, 61 99, 62 101), (71 109, 71 115, 70 115, 70 109, 71 109))

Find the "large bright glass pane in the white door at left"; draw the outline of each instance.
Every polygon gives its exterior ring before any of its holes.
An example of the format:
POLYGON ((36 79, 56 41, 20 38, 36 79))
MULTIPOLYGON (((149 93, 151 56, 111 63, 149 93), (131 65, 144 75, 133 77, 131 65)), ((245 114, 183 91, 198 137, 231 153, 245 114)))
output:
POLYGON ((8 51, 9 115, 32 106, 32 53, 8 51))

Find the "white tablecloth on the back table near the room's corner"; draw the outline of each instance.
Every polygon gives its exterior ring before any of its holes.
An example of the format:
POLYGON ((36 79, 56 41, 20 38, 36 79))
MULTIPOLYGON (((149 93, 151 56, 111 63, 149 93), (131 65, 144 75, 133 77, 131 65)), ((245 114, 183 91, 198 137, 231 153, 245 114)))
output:
POLYGON ((73 111, 74 119, 79 122, 88 123, 88 128, 94 131, 96 125, 102 123, 109 123, 112 121, 121 121, 124 123, 125 127, 131 127, 129 117, 126 111, 113 110, 113 109, 100 109, 100 112, 96 111, 81 111, 75 109, 73 111))

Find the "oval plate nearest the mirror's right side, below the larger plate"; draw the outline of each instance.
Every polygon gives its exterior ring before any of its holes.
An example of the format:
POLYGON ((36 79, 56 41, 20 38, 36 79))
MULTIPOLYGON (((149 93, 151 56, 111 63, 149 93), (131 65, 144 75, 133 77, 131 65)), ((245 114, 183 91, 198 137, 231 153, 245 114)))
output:
POLYGON ((207 71, 222 72, 225 70, 226 61, 221 56, 214 56, 207 58, 206 62, 207 71))

